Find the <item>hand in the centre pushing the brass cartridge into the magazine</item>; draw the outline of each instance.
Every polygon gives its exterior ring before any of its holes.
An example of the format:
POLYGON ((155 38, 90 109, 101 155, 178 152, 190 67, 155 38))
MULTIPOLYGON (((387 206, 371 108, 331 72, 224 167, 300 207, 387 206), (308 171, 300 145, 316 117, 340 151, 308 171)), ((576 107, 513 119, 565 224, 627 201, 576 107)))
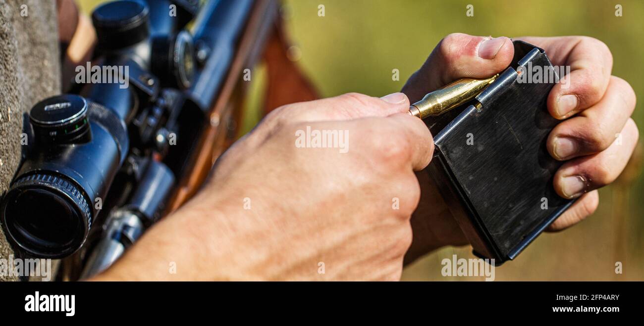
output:
POLYGON ((420 197, 413 171, 433 152, 408 107, 403 93, 347 94, 273 111, 97 279, 398 280, 420 197), (307 130, 348 138, 298 147, 307 130))

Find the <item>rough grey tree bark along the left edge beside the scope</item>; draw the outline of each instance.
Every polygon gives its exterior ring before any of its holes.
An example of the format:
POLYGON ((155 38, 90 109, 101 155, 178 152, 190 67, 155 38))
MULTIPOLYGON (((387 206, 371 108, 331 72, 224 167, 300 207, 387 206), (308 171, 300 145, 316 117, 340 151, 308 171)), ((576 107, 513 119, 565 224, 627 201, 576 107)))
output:
MULTIPOLYGON (((3 195, 20 161, 23 113, 39 100, 60 93, 58 46, 55 1, 0 0, 0 192, 3 195)), ((2 235, 0 258, 8 259, 12 253, 2 235)), ((0 280, 17 278, 0 275, 0 280)))

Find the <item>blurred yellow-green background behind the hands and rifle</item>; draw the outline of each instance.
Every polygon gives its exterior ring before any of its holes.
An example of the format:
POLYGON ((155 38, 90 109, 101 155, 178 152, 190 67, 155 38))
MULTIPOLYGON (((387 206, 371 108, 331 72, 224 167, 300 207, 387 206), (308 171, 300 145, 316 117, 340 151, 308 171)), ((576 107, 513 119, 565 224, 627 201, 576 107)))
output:
MULTIPOLYGON (((82 9, 102 1, 79 0, 82 9)), ((383 96, 403 87, 434 46, 449 33, 518 37, 587 35, 605 42, 612 74, 644 99, 644 1, 641 0, 286 0, 282 15, 294 57, 322 96, 359 92, 383 96), (615 6, 623 9, 616 17, 615 6), (318 17, 318 6, 325 17, 318 17), (466 16, 473 5, 474 16, 466 16), (392 80, 399 69, 400 80, 392 80)), ((243 130, 260 119, 264 68, 254 69, 243 130)), ((634 113, 640 134, 644 112, 634 113)), ((643 137, 644 138, 644 137, 643 137)), ((641 143, 639 154, 641 161, 641 143)), ((623 176, 600 190, 600 207, 560 233, 541 235, 496 280, 644 280, 644 177, 637 159, 623 176), (615 273, 621 262, 623 273, 615 273)), ((473 257, 470 248, 443 248, 406 267, 403 280, 482 280, 444 277, 443 258, 473 257)))

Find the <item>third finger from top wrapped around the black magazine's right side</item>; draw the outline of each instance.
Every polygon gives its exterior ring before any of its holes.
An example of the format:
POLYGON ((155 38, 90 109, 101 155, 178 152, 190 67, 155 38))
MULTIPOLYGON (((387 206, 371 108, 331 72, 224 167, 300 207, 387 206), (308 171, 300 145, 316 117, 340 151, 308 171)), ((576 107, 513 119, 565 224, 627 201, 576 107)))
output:
POLYGON ((564 163, 554 174, 554 190, 564 198, 576 198, 612 183, 626 167, 638 136, 635 122, 629 119, 608 149, 564 163))

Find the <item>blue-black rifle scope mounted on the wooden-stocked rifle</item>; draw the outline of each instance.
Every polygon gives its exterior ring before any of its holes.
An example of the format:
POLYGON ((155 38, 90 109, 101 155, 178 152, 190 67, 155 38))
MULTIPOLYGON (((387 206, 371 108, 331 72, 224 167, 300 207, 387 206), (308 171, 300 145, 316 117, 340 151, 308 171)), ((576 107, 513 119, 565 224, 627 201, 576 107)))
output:
POLYGON ((0 222, 15 249, 43 258, 77 251, 131 149, 145 155, 153 150, 148 138, 167 119, 155 102, 162 102, 160 87, 187 90, 194 78, 194 44, 184 27, 197 6, 172 1, 180 6, 171 16, 170 3, 121 0, 99 6, 92 14, 99 37, 95 62, 129 73, 108 71, 110 82, 88 81, 86 96, 54 96, 32 107, 27 150, 0 203, 0 222), (111 82, 122 78, 129 86, 111 82))

